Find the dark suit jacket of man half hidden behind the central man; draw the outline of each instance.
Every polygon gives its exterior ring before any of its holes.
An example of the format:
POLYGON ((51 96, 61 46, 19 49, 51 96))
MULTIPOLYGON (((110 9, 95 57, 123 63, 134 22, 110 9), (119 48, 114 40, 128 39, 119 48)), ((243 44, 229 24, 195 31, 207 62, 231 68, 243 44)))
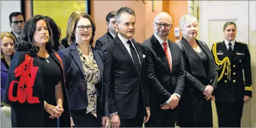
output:
POLYGON ((101 47, 104 46, 104 44, 110 42, 113 40, 113 36, 110 34, 110 31, 107 31, 106 34, 101 36, 96 42, 95 42, 95 48, 98 50, 101 50, 101 47))

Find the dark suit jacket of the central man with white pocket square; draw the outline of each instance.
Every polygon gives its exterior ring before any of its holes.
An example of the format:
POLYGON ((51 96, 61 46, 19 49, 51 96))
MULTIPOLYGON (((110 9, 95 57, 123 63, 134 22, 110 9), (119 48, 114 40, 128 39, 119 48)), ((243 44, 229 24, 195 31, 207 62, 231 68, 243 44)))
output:
POLYGON ((133 41, 140 59, 140 71, 136 72, 132 57, 117 36, 103 50, 104 78, 108 88, 110 114, 118 112, 121 119, 135 118, 138 109, 139 90, 143 108, 149 106, 148 89, 144 84, 145 58, 142 44, 133 41))

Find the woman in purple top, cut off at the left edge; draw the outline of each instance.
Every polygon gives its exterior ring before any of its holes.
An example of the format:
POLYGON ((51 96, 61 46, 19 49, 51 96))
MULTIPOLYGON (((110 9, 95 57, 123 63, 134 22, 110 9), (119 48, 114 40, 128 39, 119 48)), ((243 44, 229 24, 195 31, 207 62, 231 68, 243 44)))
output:
POLYGON ((15 36, 9 32, 1 33, 1 101, 5 92, 8 69, 15 51, 15 36))

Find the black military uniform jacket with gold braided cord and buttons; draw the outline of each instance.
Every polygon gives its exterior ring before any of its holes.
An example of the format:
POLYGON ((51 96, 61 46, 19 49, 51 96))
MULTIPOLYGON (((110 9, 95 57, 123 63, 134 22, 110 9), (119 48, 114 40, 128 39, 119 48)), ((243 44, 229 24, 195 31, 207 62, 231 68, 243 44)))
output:
MULTIPOLYGON (((216 101, 234 103, 244 101, 244 95, 252 97, 251 57, 247 44, 235 42, 233 53, 229 54, 225 42, 219 42, 216 44, 216 55, 221 61, 227 56, 231 62, 231 79, 229 80, 226 69, 213 93, 216 101)), ((223 67, 218 67, 219 76, 223 67)))

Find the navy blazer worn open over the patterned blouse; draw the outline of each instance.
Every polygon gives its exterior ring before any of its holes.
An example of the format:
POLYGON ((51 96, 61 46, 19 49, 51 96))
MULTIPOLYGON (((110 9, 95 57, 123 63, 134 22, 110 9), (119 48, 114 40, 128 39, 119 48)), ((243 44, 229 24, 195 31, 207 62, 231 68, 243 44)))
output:
MULTIPOLYGON (((103 62, 101 60, 101 52, 92 48, 94 58, 99 67, 101 81, 95 85, 97 98, 100 99, 101 116, 109 116, 106 86, 104 86, 103 79, 103 62)), ((71 110, 82 110, 88 106, 87 98, 87 84, 85 79, 84 68, 76 44, 71 44, 70 47, 60 50, 59 55, 62 58, 63 69, 66 80, 66 88, 71 110)))

